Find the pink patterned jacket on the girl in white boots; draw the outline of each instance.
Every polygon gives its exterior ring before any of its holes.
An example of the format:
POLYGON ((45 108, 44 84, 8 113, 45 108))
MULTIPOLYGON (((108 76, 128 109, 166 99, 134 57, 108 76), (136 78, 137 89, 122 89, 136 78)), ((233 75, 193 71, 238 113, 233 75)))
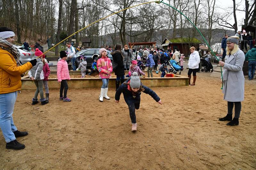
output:
POLYGON ((111 60, 106 57, 101 57, 97 61, 97 69, 99 70, 100 78, 111 78, 111 72, 112 72, 112 63, 111 60), (110 74, 108 74, 108 71, 110 71, 110 74))

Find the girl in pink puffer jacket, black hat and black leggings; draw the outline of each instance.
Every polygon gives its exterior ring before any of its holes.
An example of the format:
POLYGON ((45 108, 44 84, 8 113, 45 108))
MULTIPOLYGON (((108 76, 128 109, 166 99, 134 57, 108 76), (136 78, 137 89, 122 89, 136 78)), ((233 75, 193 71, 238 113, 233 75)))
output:
POLYGON ((68 92, 68 82, 70 80, 69 72, 68 72, 68 63, 67 60, 67 53, 65 51, 60 51, 60 58, 61 60, 57 63, 57 78, 58 82, 60 82, 60 100, 63 101, 71 101, 67 97, 68 92), (64 89, 64 96, 63 96, 63 89, 64 89))

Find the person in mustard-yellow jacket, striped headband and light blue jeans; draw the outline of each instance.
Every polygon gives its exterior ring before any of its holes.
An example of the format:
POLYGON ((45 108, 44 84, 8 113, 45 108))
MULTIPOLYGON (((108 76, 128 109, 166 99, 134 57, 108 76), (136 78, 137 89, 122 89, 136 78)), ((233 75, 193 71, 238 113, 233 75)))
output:
POLYGON ((28 135, 20 132, 14 125, 12 113, 21 89, 21 75, 36 65, 36 59, 21 65, 20 52, 12 45, 14 32, 7 27, 0 27, 0 128, 3 132, 7 149, 24 149, 16 137, 28 135))

